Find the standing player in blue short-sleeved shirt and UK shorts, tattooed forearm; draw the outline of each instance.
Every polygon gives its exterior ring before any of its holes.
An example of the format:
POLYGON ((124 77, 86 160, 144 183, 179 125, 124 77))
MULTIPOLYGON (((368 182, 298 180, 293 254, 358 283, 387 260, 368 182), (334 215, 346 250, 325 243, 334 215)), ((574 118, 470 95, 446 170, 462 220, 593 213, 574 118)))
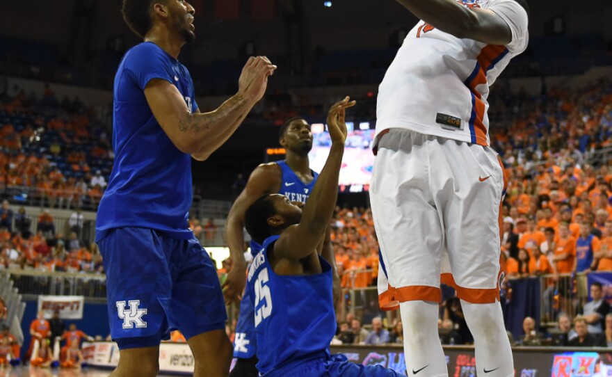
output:
POLYGON ((223 294, 187 225, 191 158, 207 159, 234 133, 275 66, 250 58, 238 93, 200 113, 191 76, 177 60, 195 40, 193 7, 124 0, 122 13, 144 42, 127 51, 115 75, 115 166, 97 214, 111 335, 120 348, 112 376, 156 376, 159 343, 175 328, 191 347, 195 376, 227 376, 232 344, 223 294))

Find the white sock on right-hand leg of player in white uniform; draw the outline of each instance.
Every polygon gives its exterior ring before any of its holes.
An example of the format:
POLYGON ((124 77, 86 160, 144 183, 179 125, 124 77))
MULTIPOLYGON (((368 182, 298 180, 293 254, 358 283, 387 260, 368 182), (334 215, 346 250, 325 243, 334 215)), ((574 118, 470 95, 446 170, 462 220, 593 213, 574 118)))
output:
POLYGON ((463 315, 474 335, 476 374, 486 377, 514 376, 512 348, 499 303, 471 304, 461 300, 463 315))

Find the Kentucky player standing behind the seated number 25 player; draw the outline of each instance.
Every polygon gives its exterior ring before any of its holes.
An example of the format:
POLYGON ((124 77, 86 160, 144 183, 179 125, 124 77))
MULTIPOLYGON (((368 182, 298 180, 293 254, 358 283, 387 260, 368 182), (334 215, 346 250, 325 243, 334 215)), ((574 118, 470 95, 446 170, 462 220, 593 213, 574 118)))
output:
MULTIPOLYGON (((242 293, 241 286, 245 284, 244 245, 244 214, 246 209, 261 195, 266 193, 281 193, 292 202, 305 203, 316 182, 318 174, 310 169, 308 152, 312 149, 312 132, 304 118, 291 118, 284 122, 279 131, 279 143, 287 151, 283 161, 262 163, 251 173, 245 189, 232 205, 225 225, 225 239, 230 247, 233 265, 230 276, 223 284, 226 302, 233 302, 242 293), (235 286, 235 287, 234 287, 235 286)), ((333 255, 330 243, 321 245, 323 252, 333 255)), ((263 247, 254 240, 250 242, 251 253, 255 257, 263 247)), ((328 260, 333 260, 330 258, 328 260)), ((335 278, 335 293, 339 295, 340 280, 332 264, 335 278)), ((253 307, 246 290, 240 305, 240 316, 236 323, 236 338, 234 340, 234 358, 236 364, 230 376, 257 377, 255 365, 257 339, 253 307)))

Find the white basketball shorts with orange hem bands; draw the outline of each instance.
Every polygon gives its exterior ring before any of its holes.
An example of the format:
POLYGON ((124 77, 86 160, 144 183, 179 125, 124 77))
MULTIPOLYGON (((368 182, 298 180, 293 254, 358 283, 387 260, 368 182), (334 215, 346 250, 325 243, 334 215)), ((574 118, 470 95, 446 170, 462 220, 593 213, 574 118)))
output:
POLYGON ((497 153, 408 129, 381 135, 370 185, 380 307, 440 302, 440 282, 469 303, 499 300, 506 177, 497 153))

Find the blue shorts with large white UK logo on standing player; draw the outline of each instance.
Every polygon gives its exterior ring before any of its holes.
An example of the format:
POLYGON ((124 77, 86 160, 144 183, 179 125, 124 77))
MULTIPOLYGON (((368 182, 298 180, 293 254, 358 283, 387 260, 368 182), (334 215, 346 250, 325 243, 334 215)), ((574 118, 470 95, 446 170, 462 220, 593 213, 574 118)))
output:
POLYGON ((194 236, 122 227, 98 242, 106 271, 111 337, 120 349, 159 345, 171 330, 186 339, 225 328, 216 267, 194 236))

